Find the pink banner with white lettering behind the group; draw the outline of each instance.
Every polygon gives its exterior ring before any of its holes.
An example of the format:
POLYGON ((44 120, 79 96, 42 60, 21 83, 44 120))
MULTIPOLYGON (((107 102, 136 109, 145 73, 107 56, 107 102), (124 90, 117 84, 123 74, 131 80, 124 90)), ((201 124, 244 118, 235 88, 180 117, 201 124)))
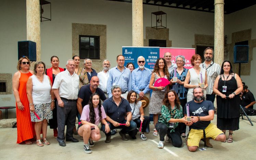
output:
POLYGON ((191 57, 195 54, 194 48, 160 48, 159 49, 159 57, 163 58, 165 52, 171 53, 171 63, 176 63, 175 59, 177 55, 183 55, 185 57, 185 68, 192 68, 193 66, 190 63, 191 57))

